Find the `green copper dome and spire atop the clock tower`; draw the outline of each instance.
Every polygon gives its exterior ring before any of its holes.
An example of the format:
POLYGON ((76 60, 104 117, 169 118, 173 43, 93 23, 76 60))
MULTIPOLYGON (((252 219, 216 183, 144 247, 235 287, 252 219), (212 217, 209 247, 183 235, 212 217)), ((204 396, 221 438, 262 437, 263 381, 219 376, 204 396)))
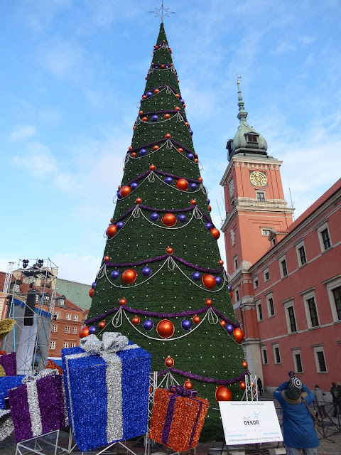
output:
POLYGON ((248 155, 267 155, 266 150, 268 144, 264 137, 256 132, 253 127, 247 123, 247 112, 244 111, 244 101, 242 92, 240 91, 238 83, 238 106, 239 112, 237 118, 239 119, 239 127, 237 133, 234 134, 233 139, 227 142, 227 149, 229 151, 229 160, 234 155, 248 154, 248 155))

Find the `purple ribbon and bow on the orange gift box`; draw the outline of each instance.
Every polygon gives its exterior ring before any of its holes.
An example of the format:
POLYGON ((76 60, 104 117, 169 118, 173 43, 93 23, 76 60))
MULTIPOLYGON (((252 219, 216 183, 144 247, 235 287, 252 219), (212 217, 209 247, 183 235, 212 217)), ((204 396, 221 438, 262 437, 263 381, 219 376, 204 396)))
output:
POLYGON ((171 385, 171 387, 168 387, 168 392, 171 392, 172 395, 169 395, 168 407, 167 407, 167 411, 166 411, 166 420, 165 420, 165 423, 163 424, 161 442, 165 445, 168 444, 169 434, 171 433, 173 414, 174 414, 174 410, 175 410, 175 402, 176 402, 177 398, 186 397, 186 398, 190 398, 191 400, 195 400, 196 402, 199 403, 199 410, 197 412, 197 417, 194 422, 192 434, 190 435, 190 442, 188 444, 188 446, 190 447, 193 443, 195 430, 197 429, 197 422, 199 420, 200 412, 202 410, 202 402, 200 400, 195 399, 195 397, 197 396, 196 390, 194 390, 194 389, 187 390, 182 385, 171 385))

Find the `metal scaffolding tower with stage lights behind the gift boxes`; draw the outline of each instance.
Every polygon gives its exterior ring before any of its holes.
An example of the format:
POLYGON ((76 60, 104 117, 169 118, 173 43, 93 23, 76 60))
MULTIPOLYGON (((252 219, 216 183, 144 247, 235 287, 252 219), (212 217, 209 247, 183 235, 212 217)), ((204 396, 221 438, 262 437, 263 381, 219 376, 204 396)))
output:
POLYGON ((42 370, 48 361, 57 275, 58 267, 50 259, 19 259, 9 274, 5 317, 16 324, 1 350, 16 353, 18 375, 42 370))

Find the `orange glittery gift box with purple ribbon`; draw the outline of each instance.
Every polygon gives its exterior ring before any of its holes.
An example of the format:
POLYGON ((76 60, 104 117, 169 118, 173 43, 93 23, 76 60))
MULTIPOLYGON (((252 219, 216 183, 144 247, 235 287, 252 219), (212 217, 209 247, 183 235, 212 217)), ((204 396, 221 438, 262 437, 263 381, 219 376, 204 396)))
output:
POLYGON ((199 442, 208 405, 203 398, 157 389, 148 436, 178 452, 193 449, 199 442))

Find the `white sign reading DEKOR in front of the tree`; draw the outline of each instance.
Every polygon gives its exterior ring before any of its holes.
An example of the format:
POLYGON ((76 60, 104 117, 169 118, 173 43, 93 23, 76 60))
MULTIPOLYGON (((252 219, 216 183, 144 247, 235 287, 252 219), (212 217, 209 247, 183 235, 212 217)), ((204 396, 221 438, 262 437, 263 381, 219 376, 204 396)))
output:
POLYGON ((220 401, 227 445, 283 441, 272 401, 220 401))

